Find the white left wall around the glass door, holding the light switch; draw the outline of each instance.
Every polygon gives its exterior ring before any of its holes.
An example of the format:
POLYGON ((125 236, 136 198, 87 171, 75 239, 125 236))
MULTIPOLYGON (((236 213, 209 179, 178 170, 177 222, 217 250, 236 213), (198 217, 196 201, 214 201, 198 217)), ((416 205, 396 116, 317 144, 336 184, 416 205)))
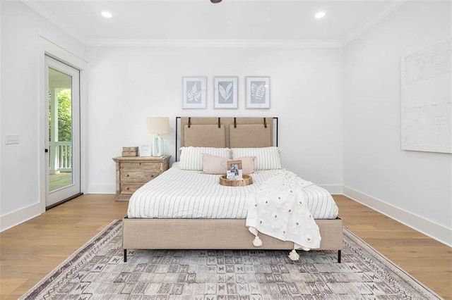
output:
POLYGON ((1 2, 0 230, 39 214, 40 36, 83 57, 85 46, 20 1, 1 2), (18 134, 20 144, 4 144, 18 134))

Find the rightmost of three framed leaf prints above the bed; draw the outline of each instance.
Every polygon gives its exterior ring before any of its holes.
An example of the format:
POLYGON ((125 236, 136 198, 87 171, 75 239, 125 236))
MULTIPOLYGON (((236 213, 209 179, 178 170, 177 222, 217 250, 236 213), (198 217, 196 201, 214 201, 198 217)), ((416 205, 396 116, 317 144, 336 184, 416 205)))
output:
POLYGON ((270 108, 270 77, 246 77, 246 108, 270 108))

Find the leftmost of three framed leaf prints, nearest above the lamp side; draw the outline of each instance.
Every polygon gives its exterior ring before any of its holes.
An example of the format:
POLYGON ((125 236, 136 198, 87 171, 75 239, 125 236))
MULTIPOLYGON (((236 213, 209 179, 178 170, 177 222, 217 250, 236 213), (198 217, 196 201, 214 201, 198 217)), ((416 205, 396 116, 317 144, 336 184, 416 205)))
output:
POLYGON ((182 77, 182 108, 206 108, 207 77, 182 77))

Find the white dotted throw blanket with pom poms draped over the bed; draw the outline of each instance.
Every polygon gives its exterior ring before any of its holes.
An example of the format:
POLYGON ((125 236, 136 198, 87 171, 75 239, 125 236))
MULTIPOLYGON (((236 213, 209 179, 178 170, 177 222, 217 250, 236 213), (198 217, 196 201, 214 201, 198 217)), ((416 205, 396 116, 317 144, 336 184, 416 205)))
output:
POLYGON ((307 208, 303 188, 312 182, 302 180, 295 173, 280 170, 270 177, 258 191, 249 194, 246 227, 255 235, 254 246, 261 246, 261 232, 283 241, 294 242, 292 260, 299 258, 295 249, 320 247, 319 226, 307 208))

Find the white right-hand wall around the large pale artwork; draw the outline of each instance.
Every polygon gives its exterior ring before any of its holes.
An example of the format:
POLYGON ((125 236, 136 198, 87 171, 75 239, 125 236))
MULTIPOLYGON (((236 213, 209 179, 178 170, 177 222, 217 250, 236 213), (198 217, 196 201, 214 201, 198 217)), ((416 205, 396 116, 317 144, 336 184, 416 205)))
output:
POLYGON ((447 244, 452 156, 400 149, 400 57, 451 25, 450 1, 408 1, 343 49, 345 194, 447 244))

